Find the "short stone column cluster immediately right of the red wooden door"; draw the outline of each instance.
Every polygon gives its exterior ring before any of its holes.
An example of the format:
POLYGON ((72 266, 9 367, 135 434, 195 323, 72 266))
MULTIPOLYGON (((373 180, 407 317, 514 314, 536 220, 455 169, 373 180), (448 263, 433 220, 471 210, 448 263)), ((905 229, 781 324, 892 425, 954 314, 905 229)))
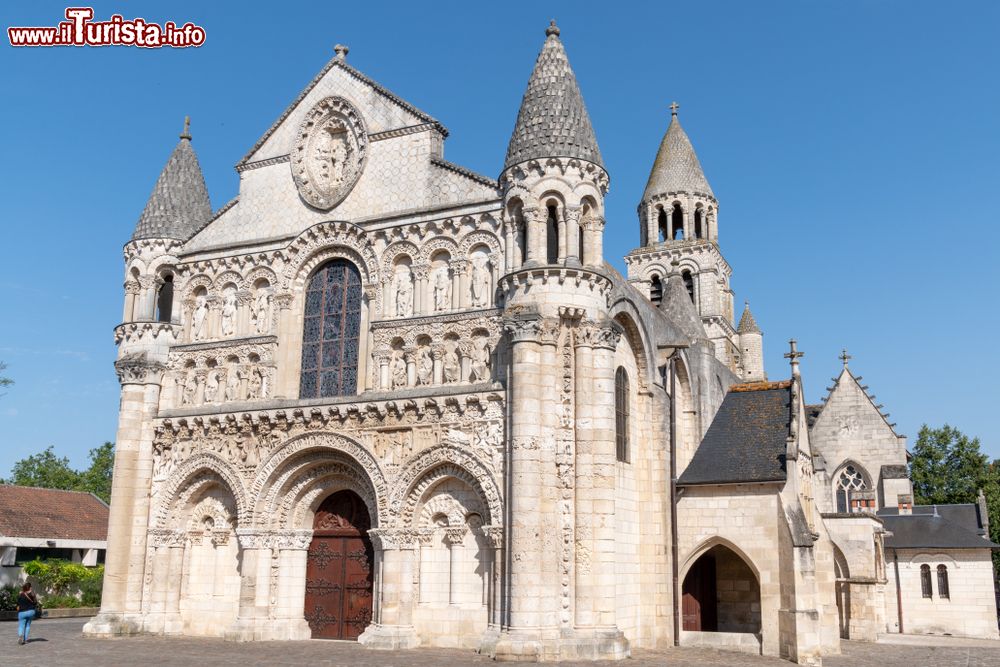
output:
POLYGON ((375 620, 358 637, 368 648, 415 648, 420 639, 413 628, 413 560, 417 533, 406 528, 373 528, 368 531, 375 547, 380 576, 375 591, 375 620))

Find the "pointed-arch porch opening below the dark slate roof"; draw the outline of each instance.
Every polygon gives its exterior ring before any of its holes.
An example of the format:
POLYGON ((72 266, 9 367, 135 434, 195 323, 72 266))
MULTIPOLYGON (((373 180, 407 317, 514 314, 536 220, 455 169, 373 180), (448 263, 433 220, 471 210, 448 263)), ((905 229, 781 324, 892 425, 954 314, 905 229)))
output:
POLYGON ((760 632, 760 583, 746 561, 716 545, 684 577, 683 629, 694 632, 760 632))

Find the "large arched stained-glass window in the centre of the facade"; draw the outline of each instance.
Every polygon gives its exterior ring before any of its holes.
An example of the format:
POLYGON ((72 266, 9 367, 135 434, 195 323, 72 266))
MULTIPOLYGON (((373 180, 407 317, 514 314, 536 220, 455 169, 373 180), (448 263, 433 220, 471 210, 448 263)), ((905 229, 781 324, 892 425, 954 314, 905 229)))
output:
POLYGON ((309 279, 302 330, 301 398, 357 391, 361 333, 361 275, 343 259, 309 279))

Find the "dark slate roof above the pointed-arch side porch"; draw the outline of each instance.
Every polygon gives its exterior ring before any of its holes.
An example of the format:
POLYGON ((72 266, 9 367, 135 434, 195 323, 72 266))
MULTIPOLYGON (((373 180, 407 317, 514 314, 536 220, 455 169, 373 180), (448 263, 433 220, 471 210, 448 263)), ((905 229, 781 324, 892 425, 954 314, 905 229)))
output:
POLYGON ((678 485, 785 481, 791 386, 785 380, 730 387, 678 485))

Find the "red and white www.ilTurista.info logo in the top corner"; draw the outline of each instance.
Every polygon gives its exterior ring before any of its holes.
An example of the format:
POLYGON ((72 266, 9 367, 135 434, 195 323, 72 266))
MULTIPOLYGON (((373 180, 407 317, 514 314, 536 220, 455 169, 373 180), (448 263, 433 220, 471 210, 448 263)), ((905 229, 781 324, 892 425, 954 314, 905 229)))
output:
POLYGON ((146 19, 126 20, 120 14, 107 21, 93 21, 93 7, 67 7, 66 21, 55 27, 10 27, 11 46, 164 46, 186 48, 205 43, 205 29, 191 22, 178 26, 167 21, 162 26, 146 19))

